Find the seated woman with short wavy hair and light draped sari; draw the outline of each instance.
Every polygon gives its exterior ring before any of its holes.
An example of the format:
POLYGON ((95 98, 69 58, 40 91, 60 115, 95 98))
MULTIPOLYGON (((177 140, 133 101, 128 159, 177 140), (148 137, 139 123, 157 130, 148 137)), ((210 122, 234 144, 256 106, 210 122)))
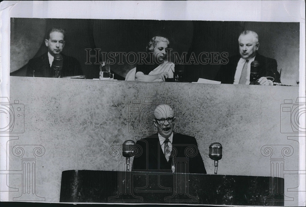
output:
POLYGON ((149 60, 137 64, 135 80, 139 81, 169 81, 173 79, 174 63, 167 61, 166 48, 169 40, 155 36, 147 45, 149 60))

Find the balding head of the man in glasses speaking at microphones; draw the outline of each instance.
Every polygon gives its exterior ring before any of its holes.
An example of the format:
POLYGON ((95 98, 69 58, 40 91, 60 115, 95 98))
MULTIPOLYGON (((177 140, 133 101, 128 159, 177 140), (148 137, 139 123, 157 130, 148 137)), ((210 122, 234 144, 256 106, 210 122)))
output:
POLYGON ((153 123, 158 133, 165 138, 170 137, 175 124, 174 109, 167 104, 158 105, 154 110, 154 116, 153 123))

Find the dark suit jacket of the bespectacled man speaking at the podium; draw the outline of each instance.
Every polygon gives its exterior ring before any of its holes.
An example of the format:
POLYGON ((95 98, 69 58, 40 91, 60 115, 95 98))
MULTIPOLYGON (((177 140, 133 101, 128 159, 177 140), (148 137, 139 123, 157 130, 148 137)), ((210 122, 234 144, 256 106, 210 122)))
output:
POLYGON ((206 174, 204 163, 200 155, 196 139, 191 136, 175 133, 172 140, 172 153, 167 162, 158 134, 140 139, 136 142, 142 149, 140 155, 135 155, 132 171, 172 172, 171 163, 188 163, 188 169, 175 168, 175 172, 206 174))

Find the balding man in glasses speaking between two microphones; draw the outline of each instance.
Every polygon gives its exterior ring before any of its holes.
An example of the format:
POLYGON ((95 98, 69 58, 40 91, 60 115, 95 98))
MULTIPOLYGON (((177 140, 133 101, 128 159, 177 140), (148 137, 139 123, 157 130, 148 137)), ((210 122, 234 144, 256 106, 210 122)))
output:
POLYGON ((206 174, 196 139, 173 131, 174 109, 166 104, 158 105, 154 116, 157 133, 136 142, 142 153, 134 157, 132 170, 206 174), (178 164, 182 162, 185 164, 178 164))

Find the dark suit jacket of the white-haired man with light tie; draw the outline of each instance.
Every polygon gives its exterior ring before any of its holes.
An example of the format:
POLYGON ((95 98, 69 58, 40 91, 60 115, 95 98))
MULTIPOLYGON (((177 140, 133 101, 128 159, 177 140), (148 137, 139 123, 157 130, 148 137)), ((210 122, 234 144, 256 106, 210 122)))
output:
MULTIPOLYGON (((215 78, 217 81, 221 81, 221 83, 233 84, 234 77, 236 73, 237 64, 240 60, 241 56, 234 56, 229 58, 229 62, 226 65, 221 65, 219 72, 215 78)), ((260 54, 256 54, 255 59, 259 61, 260 64, 260 77, 273 77, 274 81, 280 83, 280 75, 277 71, 277 62, 275 59, 265 57, 260 54)), ((251 76, 250 76, 251 80, 251 76)))

